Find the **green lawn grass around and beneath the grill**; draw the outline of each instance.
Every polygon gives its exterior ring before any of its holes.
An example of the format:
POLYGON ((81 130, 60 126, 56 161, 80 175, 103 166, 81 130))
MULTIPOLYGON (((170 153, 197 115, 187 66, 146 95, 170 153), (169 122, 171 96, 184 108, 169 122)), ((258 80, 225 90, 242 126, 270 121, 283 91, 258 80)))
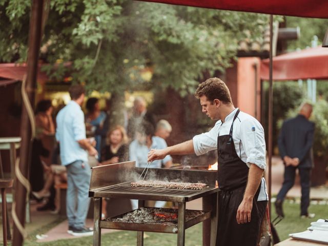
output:
MULTIPOLYGON (((281 240, 288 238, 290 233, 305 231, 312 221, 316 221, 319 218, 328 218, 327 205, 311 205, 311 213, 315 213, 316 217, 313 219, 300 219, 299 218, 299 204, 290 204, 288 201, 284 203, 285 218, 276 226, 276 230, 281 240)), ((272 207, 274 211, 274 206, 272 207)), ((276 214, 273 212, 272 218, 275 218, 276 214)), ((38 230, 35 234, 46 233, 45 231, 38 230)), ((202 227, 201 224, 189 228, 186 231, 186 246, 202 245, 202 227)), ((83 237, 76 239, 66 239, 54 242, 36 243, 35 234, 30 235, 25 241, 24 245, 40 245, 40 246, 87 246, 92 245, 92 237, 83 237)), ((144 245, 160 245, 171 246, 176 245, 175 234, 165 233, 145 233, 144 245)), ((101 237, 101 245, 111 246, 130 246, 136 245, 136 232, 121 231, 115 233, 104 234, 101 237)))

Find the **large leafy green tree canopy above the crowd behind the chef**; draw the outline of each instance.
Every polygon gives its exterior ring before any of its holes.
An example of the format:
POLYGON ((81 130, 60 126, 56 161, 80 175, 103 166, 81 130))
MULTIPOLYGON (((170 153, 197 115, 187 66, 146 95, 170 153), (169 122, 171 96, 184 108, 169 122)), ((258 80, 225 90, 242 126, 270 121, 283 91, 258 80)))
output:
MULTIPOLYGON (((30 1, 2 0, 0 60, 26 59, 30 1)), ((259 39, 268 15, 128 0, 53 0, 40 57, 71 61, 75 81, 119 92, 172 87, 191 94, 203 72, 224 71, 238 42, 259 39), (140 71, 152 68, 149 83, 140 71)), ((53 77, 66 69, 51 71, 53 77)))

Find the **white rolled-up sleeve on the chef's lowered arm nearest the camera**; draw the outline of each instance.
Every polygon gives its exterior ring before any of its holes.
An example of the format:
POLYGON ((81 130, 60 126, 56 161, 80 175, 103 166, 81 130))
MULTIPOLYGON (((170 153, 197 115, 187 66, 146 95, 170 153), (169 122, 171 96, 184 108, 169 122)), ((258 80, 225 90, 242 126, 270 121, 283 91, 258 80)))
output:
POLYGON ((240 124, 240 139, 247 155, 247 163, 253 163, 265 170, 265 140, 261 124, 252 118, 245 119, 240 124))

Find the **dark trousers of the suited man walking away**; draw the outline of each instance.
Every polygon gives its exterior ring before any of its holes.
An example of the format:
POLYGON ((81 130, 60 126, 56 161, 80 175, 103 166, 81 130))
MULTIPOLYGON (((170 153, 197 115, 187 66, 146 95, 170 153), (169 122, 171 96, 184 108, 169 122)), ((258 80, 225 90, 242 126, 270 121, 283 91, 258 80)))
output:
MULTIPOLYGON (((285 167, 282 187, 277 195, 277 199, 283 200, 287 192, 294 186, 296 167, 285 167)), ((311 185, 311 168, 298 168, 301 180, 301 215, 308 214, 310 206, 310 185, 311 185)))

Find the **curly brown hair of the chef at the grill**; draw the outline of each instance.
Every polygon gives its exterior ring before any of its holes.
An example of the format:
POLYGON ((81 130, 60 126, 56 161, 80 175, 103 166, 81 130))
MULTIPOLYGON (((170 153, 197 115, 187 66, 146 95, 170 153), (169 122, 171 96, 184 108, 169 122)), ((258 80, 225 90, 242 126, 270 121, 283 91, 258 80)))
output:
POLYGON ((230 91, 221 79, 219 78, 209 78, 203 83, 199 84, 195 96, 200 98, 201 96, 206 96, 208 100, 212 101, 214 99, 219 99, 224 104, 232 104, 230 91))

